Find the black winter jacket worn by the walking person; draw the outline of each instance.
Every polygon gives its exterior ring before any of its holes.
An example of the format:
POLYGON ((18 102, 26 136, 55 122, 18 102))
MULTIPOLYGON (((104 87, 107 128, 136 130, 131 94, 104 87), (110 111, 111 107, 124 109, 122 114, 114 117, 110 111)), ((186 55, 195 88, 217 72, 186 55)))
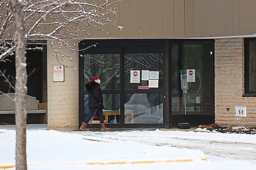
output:
POLYGON ((102 96, 99 83, 96 83, 94 81, 87 83, 86 90, 89 93, 89 103, 88 103, 89 109, 92 109, 92 108, 104 109, 103 96, 102 96))

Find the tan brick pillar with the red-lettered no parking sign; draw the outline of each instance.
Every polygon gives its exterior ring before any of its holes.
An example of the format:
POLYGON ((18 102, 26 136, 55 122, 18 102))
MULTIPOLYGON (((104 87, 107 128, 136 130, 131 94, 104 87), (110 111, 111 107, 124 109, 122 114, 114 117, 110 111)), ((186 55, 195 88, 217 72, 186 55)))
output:
MULTIPOLYGON (((78 40, 70 40, 78 49, 78 40)), ((53 65, 59 65, 54 56, 51 45, 59 44, 47 42, 47 90, 48 90, 48 129, 77 130, 78 129, 78 51, 71 51, 65 46, 56 48, 62 54, 73 58, 65 58, 60 64, 65 65, 65 81, 53 82, 53 65), (66 67, 67 66, 67 67, 66 67)), ((61 56, 61 55, 59 55, 61 56)))

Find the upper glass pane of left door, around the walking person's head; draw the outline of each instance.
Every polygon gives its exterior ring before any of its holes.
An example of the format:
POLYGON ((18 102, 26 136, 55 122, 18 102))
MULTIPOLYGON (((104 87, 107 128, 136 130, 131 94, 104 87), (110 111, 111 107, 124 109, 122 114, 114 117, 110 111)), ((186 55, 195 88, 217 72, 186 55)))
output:
POLYGON ((84 85, 93 76, 101 78, 102 90, 120 89, 120 55, 119 54, 85 54, 83 78, 84 85))

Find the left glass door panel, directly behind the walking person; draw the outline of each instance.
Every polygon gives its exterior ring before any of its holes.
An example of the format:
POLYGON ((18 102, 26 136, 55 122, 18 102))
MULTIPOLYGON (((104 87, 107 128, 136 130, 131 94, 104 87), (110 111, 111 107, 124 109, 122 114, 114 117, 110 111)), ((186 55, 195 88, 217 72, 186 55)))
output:
MULTIPOLYGON (((100 87, 103 93, 103 114, 105 124, 120 124, 120 51, 108 48, 90 50, 90 54, 83 56, 83 115, 89 114, 88 92, 84 87, 93 76, 101 78, 100 87)), ((100 124, 95 115, 92 124, 100 124)))

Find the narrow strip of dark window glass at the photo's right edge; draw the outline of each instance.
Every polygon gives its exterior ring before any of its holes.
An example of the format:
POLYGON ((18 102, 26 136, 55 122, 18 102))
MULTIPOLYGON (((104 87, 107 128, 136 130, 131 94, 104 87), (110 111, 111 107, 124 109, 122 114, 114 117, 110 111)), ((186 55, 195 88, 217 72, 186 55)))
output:
POLYGON ((256 92, 256 41, 250 41, 249 52, 249 92, 256 92))

